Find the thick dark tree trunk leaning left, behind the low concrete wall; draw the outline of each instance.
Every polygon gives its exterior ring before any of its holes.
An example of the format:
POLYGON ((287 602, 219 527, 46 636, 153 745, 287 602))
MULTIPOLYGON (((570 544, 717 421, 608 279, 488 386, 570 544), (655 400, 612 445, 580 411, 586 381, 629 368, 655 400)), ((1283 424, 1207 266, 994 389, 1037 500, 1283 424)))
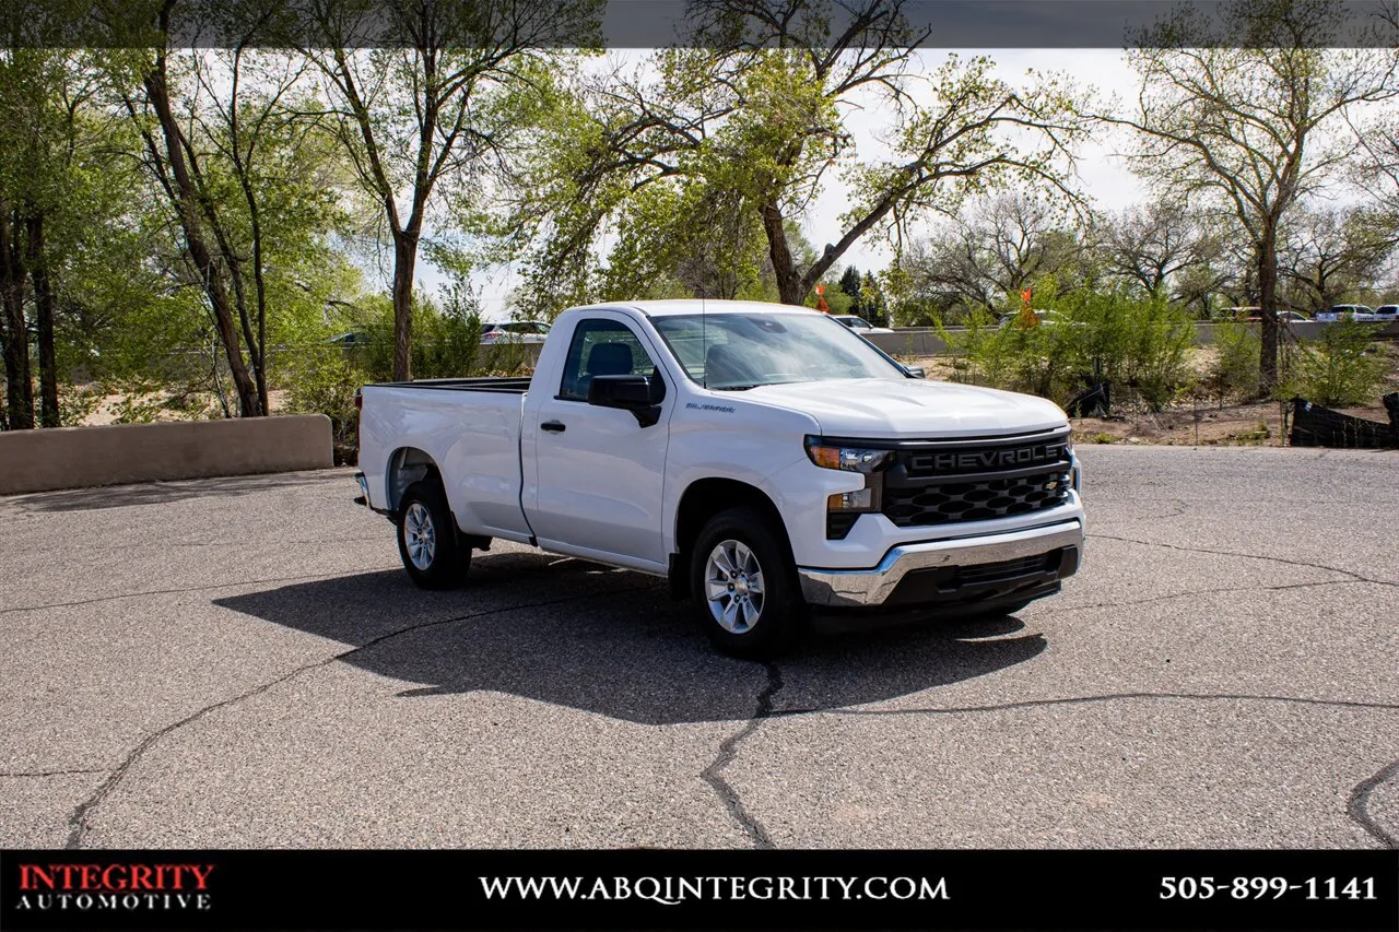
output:
POLYGON ((204 230, 199 223, 194 183, 185 164, 183 134, 171 112, 169 87, 165 83, 165 56, 157 59, 155 67, 145 74, 145 94, 155 108, 155 115, 161 123, 161 133, 165 137, 165 154, 169 160, 171 175, 175 178, 175 210, 179 214, 180 228, 185 231, 185 249, 194 262, 199 276, 208 295, 208 304, 214 312, 214 325, 218 329, 218 339, 224 344, 224 354, 228 358, 228 369, 234 376, 234 388, 238 392, 239 417, 256 417, 262 414, 257 399, 257 386, 248 374, 243 364, 242 344, 238 339, 238 329, 234 325, 234 306, 228 297, 222 274, 210 253, 204 239, 204 230))

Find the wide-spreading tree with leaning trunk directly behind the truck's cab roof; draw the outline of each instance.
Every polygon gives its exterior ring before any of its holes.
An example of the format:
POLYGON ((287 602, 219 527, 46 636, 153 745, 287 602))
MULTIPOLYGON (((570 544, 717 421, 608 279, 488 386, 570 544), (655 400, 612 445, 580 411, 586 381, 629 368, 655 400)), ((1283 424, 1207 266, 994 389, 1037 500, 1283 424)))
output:
MULTIPOLYGON (((582 88, 519 210, 519 228, 543 241, 530 260, 532 299, 547 306, 554 294, 576 294, 568 285, 588 277, 602 231, 618 218, 625 231, 646 188, 672 188, 683 203, 722 192, 751 218, 743 230, 761 230, 778 297, 802 304, 866 235, 900 241, 912 217, 1010 179, 1062 186, 1081 130, 1063 88, 1017 91, 986 57, 950 56, 933 74, 915 74, 928 35, 902 8, 904 0, 695 0, 690 21, 702 48, 662 52, 634 76, 582 88), (860 162, 844 126, 845 111, 870 95, 893 115, 893 155, 881 162, 860 162), (851 210, 806 262, 789 225, 832 174, 855 192, 851 210)), ((712 217, 680 223, 695 220, 712 217)))

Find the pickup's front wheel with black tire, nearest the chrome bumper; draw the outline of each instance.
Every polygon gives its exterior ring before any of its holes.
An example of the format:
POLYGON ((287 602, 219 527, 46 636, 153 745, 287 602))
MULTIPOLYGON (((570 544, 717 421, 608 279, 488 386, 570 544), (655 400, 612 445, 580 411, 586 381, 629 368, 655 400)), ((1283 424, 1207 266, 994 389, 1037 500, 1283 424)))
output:
POLYGON ((792 648, 806 624, 806 602, 786 537, 753 508, 722 511, 704 526, 690 554, 690 591, 709 641, 730 656, 748 661, 779 656, 792 648), (715 565, 713 582, 733 588, 719 592, 711 603, 709 558, 720 546, 730 564, 743 565, 732 565, 736 571, 732 578, 715 565), (761 585, 757 606, 755 592, 748 589, 754 565, 761 585))

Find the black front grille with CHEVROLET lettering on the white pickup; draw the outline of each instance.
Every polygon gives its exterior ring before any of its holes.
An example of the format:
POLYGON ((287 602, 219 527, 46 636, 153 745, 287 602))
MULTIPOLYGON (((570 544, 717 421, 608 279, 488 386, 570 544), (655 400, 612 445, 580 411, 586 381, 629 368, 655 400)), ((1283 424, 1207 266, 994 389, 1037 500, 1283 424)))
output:
POLYGON ((884 515, 901 528, 1013 518, 1069 501, 1067 434, 904 448, 883 474, 884 515))

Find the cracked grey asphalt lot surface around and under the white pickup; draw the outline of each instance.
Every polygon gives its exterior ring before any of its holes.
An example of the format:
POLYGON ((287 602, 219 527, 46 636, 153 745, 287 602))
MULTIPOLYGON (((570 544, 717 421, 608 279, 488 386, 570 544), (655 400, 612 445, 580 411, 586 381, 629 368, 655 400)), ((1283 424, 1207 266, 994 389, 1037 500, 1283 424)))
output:
POLYGON ((1396 455, 1080 452, 1060 596, 771 665, 350 470, 0 498, 0 847, 1399 845, 1396 455))

